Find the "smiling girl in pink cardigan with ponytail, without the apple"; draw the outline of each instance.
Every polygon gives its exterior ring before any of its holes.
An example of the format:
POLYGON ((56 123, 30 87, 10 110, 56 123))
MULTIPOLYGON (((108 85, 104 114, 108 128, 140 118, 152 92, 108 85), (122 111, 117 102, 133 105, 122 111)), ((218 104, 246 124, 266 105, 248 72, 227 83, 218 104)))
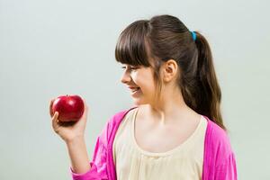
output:
POLYGON ((90 163, 86 104, 71 126, 50 113, 53 129, 67 143, 73 179, 237 179, 220 85, 201 33, 171 15, 140 20, 121 32, 115 58, 135 106, 106 123, 90 163))

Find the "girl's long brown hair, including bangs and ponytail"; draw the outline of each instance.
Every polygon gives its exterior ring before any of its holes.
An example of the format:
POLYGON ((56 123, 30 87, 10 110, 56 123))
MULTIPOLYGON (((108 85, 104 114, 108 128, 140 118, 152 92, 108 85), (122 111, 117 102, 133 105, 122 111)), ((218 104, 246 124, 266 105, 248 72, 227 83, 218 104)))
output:
POLYGON ((172 15, 139 20, 121 31, 115 58, 122 64, 153 67, 157 96, 162 88, 159 69, 167 60, 174 59, 180 69, 177 82, 184 103, 226 130, 220 112, 221 91, 211 49, 200 32, 194 33, 196 39, 184 23, 172 15))

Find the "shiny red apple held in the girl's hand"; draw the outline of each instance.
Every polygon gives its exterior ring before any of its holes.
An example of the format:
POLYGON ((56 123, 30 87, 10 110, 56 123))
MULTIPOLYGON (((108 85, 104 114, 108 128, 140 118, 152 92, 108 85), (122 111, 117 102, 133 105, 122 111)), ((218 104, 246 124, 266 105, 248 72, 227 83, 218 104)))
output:
POLYGON ((85 111, 83 99, 78 95, 61 95, 52 103, 51 112, 58 112, 59 121, 78 121, 85 111))

